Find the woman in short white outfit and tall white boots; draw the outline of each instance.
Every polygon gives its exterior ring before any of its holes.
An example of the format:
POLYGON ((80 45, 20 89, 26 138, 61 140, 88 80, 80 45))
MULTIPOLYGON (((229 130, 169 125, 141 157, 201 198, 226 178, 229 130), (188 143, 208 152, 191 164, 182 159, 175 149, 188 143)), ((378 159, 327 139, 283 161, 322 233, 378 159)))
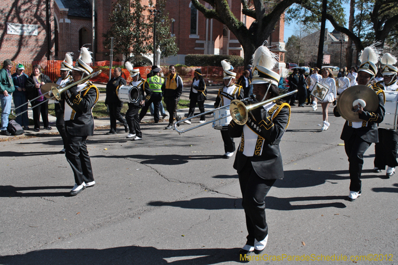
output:
POLYGON ((333 74, 328 68, 322 69, 322 79, 319 81, 320 84, 324 85, 325 87, 329 88, 326 97, 323 101, 320 101, 322 106, 322 117, 323 117, 323 126, 321 131, 325 131, 329 128, 330 123, 328 122, 328 110, 330 103, 332 103, 337 98, 337 91, 336 91, 336 81, 334 80, 333 74))

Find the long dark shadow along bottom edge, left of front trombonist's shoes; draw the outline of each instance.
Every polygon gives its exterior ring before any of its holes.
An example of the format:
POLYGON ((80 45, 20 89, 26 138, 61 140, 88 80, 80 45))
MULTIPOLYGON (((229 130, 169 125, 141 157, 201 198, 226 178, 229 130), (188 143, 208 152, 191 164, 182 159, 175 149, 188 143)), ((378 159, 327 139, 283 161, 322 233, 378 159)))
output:
MULTIPOLYGON (((204 247, 204 246, 203 246, 204 247)), ((154 247, 116 247, 109 249, 50 249, 3 256, 2 265, 211 265, 239 262, 239 249, 168 250, 154 247)))

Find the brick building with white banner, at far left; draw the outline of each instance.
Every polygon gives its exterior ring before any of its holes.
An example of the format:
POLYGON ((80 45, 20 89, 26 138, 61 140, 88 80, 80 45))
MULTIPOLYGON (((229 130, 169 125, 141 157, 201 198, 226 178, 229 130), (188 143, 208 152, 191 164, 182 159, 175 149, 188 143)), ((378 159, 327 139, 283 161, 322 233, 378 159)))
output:
POLYGON ((0 61, 54 60, 52 0, 0 1, 0 61))

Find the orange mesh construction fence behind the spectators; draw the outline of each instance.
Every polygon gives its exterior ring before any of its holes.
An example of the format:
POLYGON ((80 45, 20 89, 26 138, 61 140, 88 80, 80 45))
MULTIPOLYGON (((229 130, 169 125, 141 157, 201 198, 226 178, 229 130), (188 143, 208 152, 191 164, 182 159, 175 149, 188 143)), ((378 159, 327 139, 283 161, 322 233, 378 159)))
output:
MULTIPOLYGON (((62 61, 40 61, 40 62, 12 62, 12 70, 14 73, 16 65, 19 63, 23 64, 25 68, 25 74, 28 76, 32 73, 33 65, 40 65, 43 69, 43 73, 47 75, 52 81, 60 76, 59 69, 61 68, 62 61)), ((75 64, 75 63, 74 63, 75 64)), ((117 67, 119 62, 113 62, 113 67, 117 67)), ((93 70, 102 70, 101 74, 97 77, 91 79, 93 83, 106 84, 109 81, 109 61, 95 62, 94 66, 91 66, 93 70)), ((182 78, 184 86, 191 86, 192 80, 194 78, 194 72, 196 69, 200 69, 202 76, 207 85, 222 85, 223 70, 222 67, 213 66, 202 66, 202 67, 176 67, 177 74, 182 78)), ((150 66, 138 67, 140 74, 143 79, 146 79, 147 74, 151 72, 150 66)), ((167 75, 169 69, 168 66, 161 67, 162 73, 167 75)), ((243 74, 243 67, 236 67, 233 72, 236 74, 236 79, 238 79, 243 74)), ((127 81, 131 82, 130 74, 127 69, 122 68, 122 77, 127 81)))

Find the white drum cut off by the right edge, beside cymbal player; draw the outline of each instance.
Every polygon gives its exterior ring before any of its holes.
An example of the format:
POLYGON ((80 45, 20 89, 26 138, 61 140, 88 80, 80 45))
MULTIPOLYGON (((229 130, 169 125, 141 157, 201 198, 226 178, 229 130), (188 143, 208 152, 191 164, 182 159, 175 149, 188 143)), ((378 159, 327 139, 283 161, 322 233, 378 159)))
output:
POLYGON ((379 123, 379 128, 397 131, 397 106, 398 106, 398 91, 384 91, 386 94, 386 103, 384 108, 386 109, 386 114, 381 123, 379 123))

